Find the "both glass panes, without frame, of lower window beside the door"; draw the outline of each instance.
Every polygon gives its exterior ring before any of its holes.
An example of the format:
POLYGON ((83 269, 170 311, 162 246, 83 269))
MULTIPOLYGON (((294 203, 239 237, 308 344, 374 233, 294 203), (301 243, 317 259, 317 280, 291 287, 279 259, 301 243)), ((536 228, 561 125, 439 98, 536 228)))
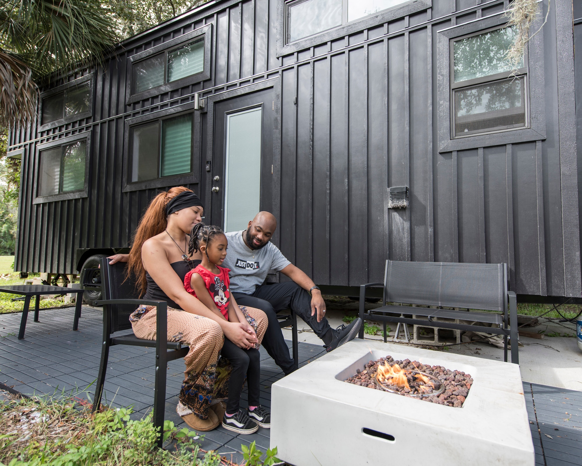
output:
POLYGON ((130 128, 130 183, 192 172, 193 117, 182 114, 130 128))

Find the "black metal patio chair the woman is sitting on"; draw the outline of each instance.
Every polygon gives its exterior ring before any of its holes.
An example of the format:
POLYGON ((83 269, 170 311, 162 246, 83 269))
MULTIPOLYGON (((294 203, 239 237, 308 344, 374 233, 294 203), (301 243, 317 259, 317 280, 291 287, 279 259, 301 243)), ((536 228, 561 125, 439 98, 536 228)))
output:
POLYGON ((159 428, 158 446, 162 446, 164 433, 164 410, 166 401, 166 373, 168 362, 183 358, 189 351, 181 343, 167 341, 168 306, 165 301, 148 301, 138 299, 136 280, 130 277, 125 280, 125 263, 109 264, 107 257, 101 259, 101 285, 103 297, 95 302, 96 306, 103 306, 103 343, 101 349, 101 365, 95 387, 93 412, 101 405, 101 396, 105 383, 105 373, 109 359, 109 348, 113 345, 130 345, 155 348, 155 389, 154 389, 154 425, 159 428), (144 304, 155 306, 157 309, 156 340, 141 340, 133 331, 123 336, 112 336, 122 330, 131 330, 130 314, 137 306, 144 304), (160 338, 159 336, 163 336, 160 338))

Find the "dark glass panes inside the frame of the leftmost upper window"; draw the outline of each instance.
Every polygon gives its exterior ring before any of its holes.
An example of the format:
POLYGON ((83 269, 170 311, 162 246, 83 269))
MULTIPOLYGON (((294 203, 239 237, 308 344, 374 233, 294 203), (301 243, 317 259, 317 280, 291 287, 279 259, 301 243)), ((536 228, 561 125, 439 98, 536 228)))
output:
POLYGON ((58 94, 42 99, 41 124, 80 115, 90 109, 91 88, 89 82, 69 87, 58 94))

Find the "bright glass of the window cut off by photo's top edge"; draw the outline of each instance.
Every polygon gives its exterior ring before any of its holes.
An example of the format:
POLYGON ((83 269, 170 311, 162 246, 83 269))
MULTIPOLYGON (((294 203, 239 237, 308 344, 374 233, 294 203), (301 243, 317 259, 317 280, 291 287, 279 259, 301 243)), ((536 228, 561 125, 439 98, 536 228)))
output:
POLYGON ((286 42, 290 43, 373 15, 410 0, 296 0, 287 2, 286 42))

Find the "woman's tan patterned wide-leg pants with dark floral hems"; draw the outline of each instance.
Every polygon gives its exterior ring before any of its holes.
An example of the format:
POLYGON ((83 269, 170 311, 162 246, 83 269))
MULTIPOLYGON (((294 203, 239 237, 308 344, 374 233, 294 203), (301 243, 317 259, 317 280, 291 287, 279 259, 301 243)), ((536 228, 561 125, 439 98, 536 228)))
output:
MULTIPOLYGON (((260 309, 243 308, 261 342, 267 330, 267 316, 260 309)), ((155 306, 139 306, 129 317, 137 338, 155 340, 156 313, 155 306)), ((168 341, 180 341, 190 347, 184 357, 186 370, 176 408, 179 415, 194 413, 207 419, 210 405, 228 397, 229 364, 218 361, 223 338, 221 326, 214 320, 168 308, 168 341)))

